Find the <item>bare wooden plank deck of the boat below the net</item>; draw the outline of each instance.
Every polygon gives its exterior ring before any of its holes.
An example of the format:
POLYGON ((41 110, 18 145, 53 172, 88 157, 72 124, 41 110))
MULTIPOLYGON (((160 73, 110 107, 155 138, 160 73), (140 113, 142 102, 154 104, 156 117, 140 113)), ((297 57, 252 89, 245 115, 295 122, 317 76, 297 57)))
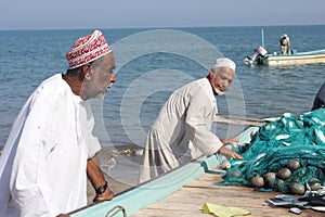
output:
MULTIPOLYGON (((150 206, 141 208, 133 217, 166 217, 166 216, 212 216, 204 214, 204 203, 212 203, 222 206, 235 206, 251 213, 253 217, 282 217, 297 216, 289 212, 289 208, 274 207, 268 203, 269 199, 281 194, 280 192, 257 192, 252 188, 217 186, 222 181, 221 175, 205 174, 197 180, 183 186, 168 197, 150 206)), ((324 213, 312 209, 303 209, 299 216, 321 217, 324 213)))

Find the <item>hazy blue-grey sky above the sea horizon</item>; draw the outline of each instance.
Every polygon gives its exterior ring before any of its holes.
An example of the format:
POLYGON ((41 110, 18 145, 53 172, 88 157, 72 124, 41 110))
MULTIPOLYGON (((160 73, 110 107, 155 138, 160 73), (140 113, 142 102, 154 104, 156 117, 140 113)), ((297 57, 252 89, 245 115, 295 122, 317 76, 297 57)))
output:
POLYGON ((323 25, 324 0, 1 0, 0 29, 323 25))

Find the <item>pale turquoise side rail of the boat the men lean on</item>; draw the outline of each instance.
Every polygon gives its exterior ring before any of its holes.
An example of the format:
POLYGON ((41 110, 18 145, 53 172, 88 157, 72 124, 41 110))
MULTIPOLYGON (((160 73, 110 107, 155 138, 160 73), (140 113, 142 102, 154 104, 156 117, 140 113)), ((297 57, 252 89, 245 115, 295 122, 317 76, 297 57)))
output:
MULTIPOLYGON (((238 138, 239 143, 247 143, 250 141, 250 132, 257 130, 258 127, 249 127, 243 131, 238 138)), ((139 209, 146 207, 157 201, 160 201, 172 192, 179 190, 184 184, 198 179, 209 170, 219 166, 224 158, 221 155, 212 155, 210 157, 198 158, 187 165, 179 167, 155 180, 145 182, 141 186, 134 187, 126 192, 116 195, 112 201, 104 201, 81 207, 78 210, 72 212, 72 217, 98 217, 110 216, 108 213, 116 207, 122 207, 126 215, 119 212, 114 216, 130 216, 135 214, 139 209)))

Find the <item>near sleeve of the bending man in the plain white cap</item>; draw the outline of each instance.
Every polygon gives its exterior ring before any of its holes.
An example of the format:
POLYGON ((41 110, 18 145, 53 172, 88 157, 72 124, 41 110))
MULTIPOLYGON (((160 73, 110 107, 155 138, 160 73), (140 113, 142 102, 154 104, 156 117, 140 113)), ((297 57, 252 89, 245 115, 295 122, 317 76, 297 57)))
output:
POLYGON ((214 154, 223 145, 210 131, 216 113, 216 100, 211 101, 211 97, 204 89, 194 95, 186 112, 185 128, 188 140, 206 156, 214 154))

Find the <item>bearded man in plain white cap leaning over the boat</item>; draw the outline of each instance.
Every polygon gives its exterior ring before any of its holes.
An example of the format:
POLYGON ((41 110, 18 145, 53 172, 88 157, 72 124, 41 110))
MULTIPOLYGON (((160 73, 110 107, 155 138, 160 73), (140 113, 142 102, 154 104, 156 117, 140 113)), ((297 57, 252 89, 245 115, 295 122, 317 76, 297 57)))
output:
POLYGON ((235 67, 230 59, 217 59, 206 78, 192 81, 169 97, 147 133, 140 183, 200 156, 219 153, 243 158, 211 131, 218 113, 216 95, 229 90, 235 67))

